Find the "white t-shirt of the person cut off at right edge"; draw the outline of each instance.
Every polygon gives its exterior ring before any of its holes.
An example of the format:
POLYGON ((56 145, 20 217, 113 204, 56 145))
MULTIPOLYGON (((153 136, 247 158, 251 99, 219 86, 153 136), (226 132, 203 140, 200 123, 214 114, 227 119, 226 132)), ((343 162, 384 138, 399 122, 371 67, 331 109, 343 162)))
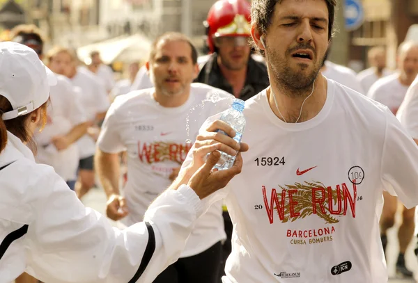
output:
POLYGON ((408 88, 396 118, 401 121, 410 136, 418 140, 418 76, 408 88))

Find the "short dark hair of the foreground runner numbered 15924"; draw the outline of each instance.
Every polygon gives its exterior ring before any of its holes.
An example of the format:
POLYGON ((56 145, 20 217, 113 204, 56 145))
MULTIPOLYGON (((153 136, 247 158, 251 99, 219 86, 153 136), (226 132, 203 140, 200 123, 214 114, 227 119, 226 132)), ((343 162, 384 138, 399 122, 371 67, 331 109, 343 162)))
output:
MULTIPOLYGON (((251 22, 256 26, 256 29, 262 34, 266 34, 268 28, 272 24, 272 17, 274 14, 274 7, 282 0, 252 0, 251 1, 251 22)), ((334 34, 334 14, 336 0, 324 0, 328 8, 328 40, 331 40, 334 34)), ((302 5, 302 4, 301 4, 302 5)), ((254 46, 261 55, 264 56, 264 51, 259 50, 254 46)))

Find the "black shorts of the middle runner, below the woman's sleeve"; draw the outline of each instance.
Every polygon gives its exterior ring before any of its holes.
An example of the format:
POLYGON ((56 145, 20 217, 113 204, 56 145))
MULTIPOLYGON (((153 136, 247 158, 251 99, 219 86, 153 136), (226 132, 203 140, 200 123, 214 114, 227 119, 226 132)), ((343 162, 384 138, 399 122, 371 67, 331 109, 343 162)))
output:
POLYGON ((217 242, 200 254, 178 259, 153 283, 218 283, 221 257, 222 243, 217 242))

